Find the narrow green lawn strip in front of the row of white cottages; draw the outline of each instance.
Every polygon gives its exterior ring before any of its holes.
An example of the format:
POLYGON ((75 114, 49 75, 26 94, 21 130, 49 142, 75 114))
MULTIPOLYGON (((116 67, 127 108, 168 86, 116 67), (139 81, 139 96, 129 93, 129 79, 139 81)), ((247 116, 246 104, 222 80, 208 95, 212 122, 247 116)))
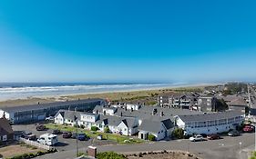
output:
MULTIPOLYGON (((48 129, 59 129, 61 131, 67 132, 76 132, 77 128, 74 126, 67 125, 59 125, 59 124, 45 124, 48 129)), ((138 138, 131 138, 131 136, 124 136, 119 134, 107 134, 102 132, 93 132, 86 129, 78 128, 78 133, 85 133, 90 138, 97 138, 97 135, 101 134, 103 139, 111 140, 117 142, 118 144, 138 144, 145 142, 144 140, 140 140, 138 138)))

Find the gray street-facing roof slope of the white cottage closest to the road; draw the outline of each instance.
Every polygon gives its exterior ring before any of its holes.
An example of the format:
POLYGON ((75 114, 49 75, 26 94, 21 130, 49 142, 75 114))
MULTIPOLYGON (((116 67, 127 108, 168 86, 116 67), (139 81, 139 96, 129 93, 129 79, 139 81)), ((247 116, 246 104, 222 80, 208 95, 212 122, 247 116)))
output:
POLYGON ((143 120, 142 124, 138 126, 138 130, 158 134, 162 124, 160 121, 143 120))

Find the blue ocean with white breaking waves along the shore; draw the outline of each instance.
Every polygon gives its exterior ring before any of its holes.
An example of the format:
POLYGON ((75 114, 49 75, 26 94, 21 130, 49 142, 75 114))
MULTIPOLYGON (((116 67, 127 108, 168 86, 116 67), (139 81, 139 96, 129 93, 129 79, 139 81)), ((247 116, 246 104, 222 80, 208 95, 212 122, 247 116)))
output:
POLYGON ((184 84, 139 83, 0 83, 0 101, 67 94, 147 90, 184 84))

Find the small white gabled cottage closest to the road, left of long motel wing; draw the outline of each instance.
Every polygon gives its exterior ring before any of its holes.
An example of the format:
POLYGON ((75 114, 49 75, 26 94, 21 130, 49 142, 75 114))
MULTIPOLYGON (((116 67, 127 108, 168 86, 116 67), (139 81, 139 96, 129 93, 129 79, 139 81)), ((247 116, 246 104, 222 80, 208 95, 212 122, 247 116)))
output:
POLYGON ((153 134, 156 140, 162 140, 171 134, 173 128, 169 119, 165 121, 143 120, 142 124, 138 126, 138 138, 147 140, 148 134, 153 134))

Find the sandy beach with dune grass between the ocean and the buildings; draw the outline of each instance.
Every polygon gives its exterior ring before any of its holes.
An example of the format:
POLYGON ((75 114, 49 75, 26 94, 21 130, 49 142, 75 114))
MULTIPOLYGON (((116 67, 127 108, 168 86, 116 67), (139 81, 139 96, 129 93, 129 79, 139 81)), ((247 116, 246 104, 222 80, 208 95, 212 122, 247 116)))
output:
POLYGON ((85 94, 60 94, 60 95, 45 95, 45 96, 35 96, 23 99, 14 100, 3 100, 0 101, 0 107, 6 106, 18 106, 24 104, 37 104, 38 102, 51 103, 56 101, 66 101, 77 100, 77 99, 87 99, 87 98, 103 98, 109 99, 111 102, 127 102, 132 103, 146 102, 146 104, 154 104, 158 94, 166 93, 170 91, 175 92, 191 92, 195 90, 203 90, 205 86, 216 85, 216 84, 189 84, 189 85, 173 85, 169 87, 158 87, 158 88, 145 88, 138 90, 120 90, 120 91, 108 91, 108 92, 98 92, 98 93, 85 93, 85 94))

